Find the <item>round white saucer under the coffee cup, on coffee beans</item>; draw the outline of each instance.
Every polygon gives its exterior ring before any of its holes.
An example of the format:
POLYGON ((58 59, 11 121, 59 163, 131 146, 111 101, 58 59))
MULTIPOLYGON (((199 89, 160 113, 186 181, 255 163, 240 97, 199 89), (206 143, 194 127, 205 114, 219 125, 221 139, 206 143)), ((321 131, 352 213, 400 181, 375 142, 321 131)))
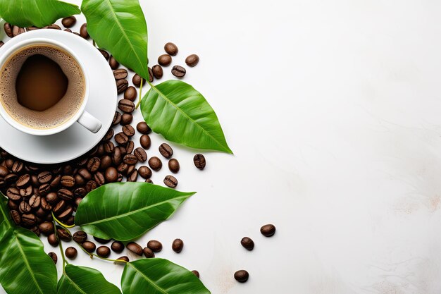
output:
POLYGON ((97 134, 74 123, 67 130, 50 136, 34 136, 16 130, 0 117, 0 147, 19 159, 37 164, 58 164, 70 161, 88 152, 106 135, 116 111, 115 78, 106 59, 82 37, 61 30, 34 30, 9 40, 0 48, 0 54, 10 45, 28 37, 56 39, 75 51, 85 61, 90 79, 90 98, 86 110, 103 124, 97 134))

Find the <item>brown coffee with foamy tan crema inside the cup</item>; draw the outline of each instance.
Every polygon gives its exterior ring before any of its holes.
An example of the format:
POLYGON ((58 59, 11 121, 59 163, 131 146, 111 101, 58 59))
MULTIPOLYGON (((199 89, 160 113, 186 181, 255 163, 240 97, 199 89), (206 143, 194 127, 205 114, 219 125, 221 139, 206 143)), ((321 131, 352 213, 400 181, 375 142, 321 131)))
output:
POLYGON ((1 68, 1 104, 15 121, 29 128, 63 125, 80 110, 84 98, 85 77, 80 66, 57 47, 30 45, 16 51, 1 68))

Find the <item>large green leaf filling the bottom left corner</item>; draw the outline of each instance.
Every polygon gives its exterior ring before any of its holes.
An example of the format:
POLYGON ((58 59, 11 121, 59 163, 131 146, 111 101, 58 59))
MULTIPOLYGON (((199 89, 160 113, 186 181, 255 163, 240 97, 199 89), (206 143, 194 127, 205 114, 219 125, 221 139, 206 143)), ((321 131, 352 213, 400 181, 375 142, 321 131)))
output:
POLYGON ((0 284, 8 294, 56 293, 56 267, 42 241, 9 216, 0 193, 0 284))

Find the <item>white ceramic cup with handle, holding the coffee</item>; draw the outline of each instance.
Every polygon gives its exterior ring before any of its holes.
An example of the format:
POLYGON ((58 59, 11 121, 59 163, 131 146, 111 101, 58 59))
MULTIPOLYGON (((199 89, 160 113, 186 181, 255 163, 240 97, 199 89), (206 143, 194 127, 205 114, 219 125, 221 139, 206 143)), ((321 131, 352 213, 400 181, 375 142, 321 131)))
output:
MULTIPOLYGON (((6 47, 8 43, 6 43, 4 46, 6 47)), ((58 49, 61 49, 63 51, 66 51, 70 56, 75 59, 78 66, 80 66, 80 70, 82 71, 82 75, 85 78, 85 91, 84 91, 84 97, 82 99, 82 104, 80 108, 78 109, 77 113, 73 115, 68 121, 64 122, 61 125, 57 125, 54 128, 47 128, 47 129, 37 129, 37 128, 30 128, 27 125, 23 125, 19 123, 18 121, 15 121, 15 119, 8 114, 8 111, 4 109, 4 106, 2 103, 0 103, 0 115, 4 118, 4 120, 13 126, 13 128, 16 128, 17 130, 22 131, 23 133, 27 133, 30 135, 39 135, 39 136, 45 136, 45 135, 54 135, 56 133, 60 133, 63 130, 66 130, 71 125, 73 125, 75 122, 80 123, 80 125, 87 128, 87 130, 91 131, 92 133, 97 133, 101 129, 101 122, 89 114, 87 111, 85 111, 87 101, 89 100, 89 78, 87 77, 87 71, 85 71, 85 65, 82 63, 80 59, 77 58, 76 54, 69 49, 64 44, 61 44, 60 42, 56 42, 54 39, 46 39, 46 38, 30 38, 26 39, 22 42, 19 42, 11 47, 8 47, 6 51, 4 51, 3 54, 0 56, 0 68, 3 68, 6 61, 8 61, 9 57, 11 57, 16 52, 20 51, 21 49, 25 47, 30 47, 32 45, 49 45, 51 47, 56 47, 58 49)))

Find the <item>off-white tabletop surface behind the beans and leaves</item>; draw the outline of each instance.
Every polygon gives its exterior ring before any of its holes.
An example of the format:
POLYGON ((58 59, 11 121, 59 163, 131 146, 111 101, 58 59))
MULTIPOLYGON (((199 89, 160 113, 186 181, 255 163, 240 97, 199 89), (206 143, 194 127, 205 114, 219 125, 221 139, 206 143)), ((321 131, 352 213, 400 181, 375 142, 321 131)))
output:
MULTIPOLYGON (((157 256, 199 270, 212 293, 440 293, 439 1, 141 3, 151 63, 169 41, 173 64, 199 54, 184 80, 235 156, 204 152, 201 172, 194 150, 172 145, 179 190, 198 193, 140 244, 161 240, 157 256)), ((163 142, 152 140, 150 157, 163 142)), ((82 252, 73 264, 119 285, 123 267, 82 252)))

